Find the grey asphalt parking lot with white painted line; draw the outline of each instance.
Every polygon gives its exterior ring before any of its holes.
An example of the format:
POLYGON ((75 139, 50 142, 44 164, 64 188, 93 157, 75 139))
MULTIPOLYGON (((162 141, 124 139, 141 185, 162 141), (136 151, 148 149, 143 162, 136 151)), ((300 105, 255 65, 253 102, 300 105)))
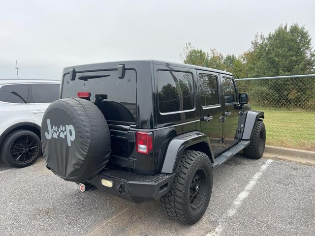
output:
POLYGON ((0 235, 315 235, 315 166, 238 155, 214 171, 210 205, 192 226, 170 220, 159 201, 134 204, 81 193, 45 168, 0 163, 0 235))

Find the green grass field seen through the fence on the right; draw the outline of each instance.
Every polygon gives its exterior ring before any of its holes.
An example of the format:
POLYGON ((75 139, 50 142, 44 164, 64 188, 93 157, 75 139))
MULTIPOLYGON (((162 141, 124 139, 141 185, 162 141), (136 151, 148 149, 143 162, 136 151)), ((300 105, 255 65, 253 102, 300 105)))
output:
POLYGON ((265 113, 267 145, 315 151, 315 112, 252 108, 265 113))

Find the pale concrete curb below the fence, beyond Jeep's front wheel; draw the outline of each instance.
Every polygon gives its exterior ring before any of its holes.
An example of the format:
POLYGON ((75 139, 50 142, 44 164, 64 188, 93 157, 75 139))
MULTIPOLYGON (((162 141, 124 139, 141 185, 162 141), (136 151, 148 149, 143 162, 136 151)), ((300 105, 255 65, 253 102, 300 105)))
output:
POLYGON ((264 156, 265 158, 315 165, 315 151, 266 146, 264 156))

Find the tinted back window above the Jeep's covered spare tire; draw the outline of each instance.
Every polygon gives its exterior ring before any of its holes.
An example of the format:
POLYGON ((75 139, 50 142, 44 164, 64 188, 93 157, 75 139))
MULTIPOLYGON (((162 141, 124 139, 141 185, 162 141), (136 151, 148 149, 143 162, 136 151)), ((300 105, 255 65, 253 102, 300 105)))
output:
POLYGON ((106 120, 134 123, 136 120, 136 71, 126 70, 123 79, 116 70, 76 73, 75 80, 66 74, 63 79, 62 98, 77 97, 77 92, 91 92, 91 102, 101 110, 106 120), (86 81, 82 75, 103 75, 86 81), (82 77, 81 77, 82 78, 82 77))

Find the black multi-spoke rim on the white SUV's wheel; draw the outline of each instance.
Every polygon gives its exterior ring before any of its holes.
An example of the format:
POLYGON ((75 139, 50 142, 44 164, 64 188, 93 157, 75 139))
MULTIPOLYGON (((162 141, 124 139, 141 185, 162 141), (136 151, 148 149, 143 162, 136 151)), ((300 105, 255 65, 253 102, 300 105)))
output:
POLYGON ((38 150, 39 147, 34 137, 22 135, 11 144, 10 154, 15 162, 26 163, 36 157, 38 150))

